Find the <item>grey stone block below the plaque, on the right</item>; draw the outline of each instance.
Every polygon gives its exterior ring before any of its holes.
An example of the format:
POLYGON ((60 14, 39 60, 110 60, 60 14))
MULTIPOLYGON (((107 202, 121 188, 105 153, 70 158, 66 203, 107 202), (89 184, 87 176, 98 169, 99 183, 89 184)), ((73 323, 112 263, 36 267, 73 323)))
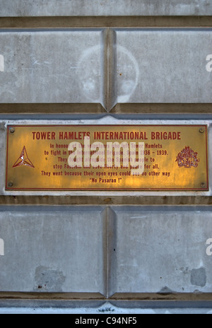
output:
POLYGON ((211 209, 113 208, 110 295, 114 293, 210 293, 211 209))

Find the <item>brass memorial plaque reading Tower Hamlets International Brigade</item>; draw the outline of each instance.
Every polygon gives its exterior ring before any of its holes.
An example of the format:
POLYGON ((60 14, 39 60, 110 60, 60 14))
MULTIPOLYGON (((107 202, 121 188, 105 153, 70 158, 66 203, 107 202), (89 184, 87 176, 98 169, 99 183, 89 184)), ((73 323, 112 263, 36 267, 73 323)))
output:
POLYGON ((8 126, 6 190, 208 190, 206 125, 8 126))

